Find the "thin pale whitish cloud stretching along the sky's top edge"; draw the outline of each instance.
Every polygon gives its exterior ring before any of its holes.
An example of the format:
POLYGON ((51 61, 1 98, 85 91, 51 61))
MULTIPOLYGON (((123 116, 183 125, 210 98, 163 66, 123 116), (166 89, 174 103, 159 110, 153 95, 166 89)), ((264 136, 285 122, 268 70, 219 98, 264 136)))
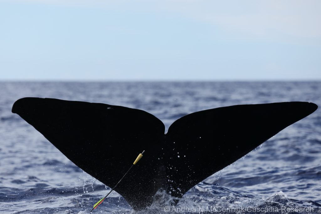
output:
POLYGON ((320 39, 321 1, 125 1, 125 0, 15 0, 23 3, 98 7, 117 12, 175 14, 249 37, 320 39))

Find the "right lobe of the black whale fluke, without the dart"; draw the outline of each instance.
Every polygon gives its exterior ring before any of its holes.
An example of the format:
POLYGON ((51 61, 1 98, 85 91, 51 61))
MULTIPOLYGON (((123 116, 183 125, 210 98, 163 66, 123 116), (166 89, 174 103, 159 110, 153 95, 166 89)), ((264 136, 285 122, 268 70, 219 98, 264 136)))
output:
POLYGON ((179 188, 171 192, 180 196, 316 109, 314 103, 283 102, 220 107, 181 117, 166 134, 167 166, 176 167, 167 168, 173 181, 168 191, 179 188))

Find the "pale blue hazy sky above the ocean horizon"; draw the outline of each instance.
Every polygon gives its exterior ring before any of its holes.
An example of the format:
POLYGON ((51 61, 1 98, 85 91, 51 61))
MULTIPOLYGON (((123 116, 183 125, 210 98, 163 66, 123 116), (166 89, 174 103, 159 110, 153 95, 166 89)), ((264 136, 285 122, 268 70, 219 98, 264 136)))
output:
POLYGON ((0 0, 0 81, 321 80, 319 0, 0 0))

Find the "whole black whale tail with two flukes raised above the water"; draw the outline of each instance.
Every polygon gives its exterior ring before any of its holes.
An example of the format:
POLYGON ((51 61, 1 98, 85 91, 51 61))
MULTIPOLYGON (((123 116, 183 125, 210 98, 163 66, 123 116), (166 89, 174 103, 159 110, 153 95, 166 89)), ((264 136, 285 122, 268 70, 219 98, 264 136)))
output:
POLYGON ((160 187, 182 197, 316 109, 308 102, 220 107, 183 116, 166 134, 164 124, 143 110, 102 103, 21 98, 12 112, 108 186, 117 183, 137 152, 146 150, 116 189, 133 209, 141 210, 160 187))

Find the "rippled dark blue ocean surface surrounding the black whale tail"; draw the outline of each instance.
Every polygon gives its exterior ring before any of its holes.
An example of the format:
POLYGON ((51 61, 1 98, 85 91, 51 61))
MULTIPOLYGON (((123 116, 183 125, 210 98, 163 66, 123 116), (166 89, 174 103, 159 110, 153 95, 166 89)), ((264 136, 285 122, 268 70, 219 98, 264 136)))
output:
MULTIPOLYGON (((321 213, 321 82, 0 82, 0 213, 89 213, 109 187, 11 113, 22 97, 138 108, 166 129, 204 109, 314 102, 316 112, 197 184, 176 206, 159 192, 137 213, 321 213)), ((135 212, 113 192, 93 213, 135 212)))

